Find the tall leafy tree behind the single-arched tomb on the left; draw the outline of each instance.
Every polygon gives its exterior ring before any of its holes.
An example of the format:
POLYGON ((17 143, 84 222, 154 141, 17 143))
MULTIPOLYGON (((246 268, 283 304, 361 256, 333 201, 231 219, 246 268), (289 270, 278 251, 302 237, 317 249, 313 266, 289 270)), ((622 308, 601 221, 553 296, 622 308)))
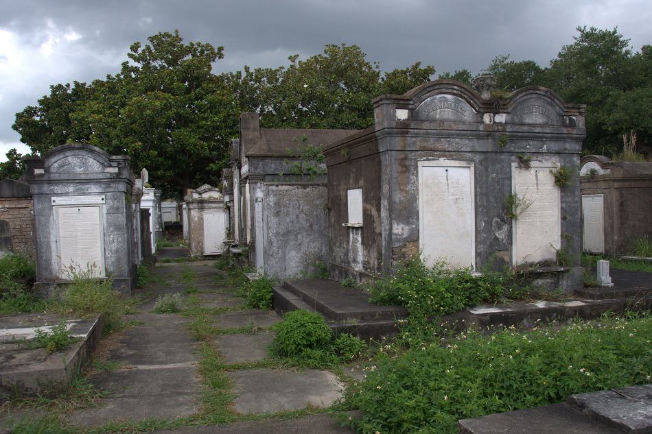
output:
POLYGON ((211 72, 223 47, 183 43, 178 31, 131 45, 121 71, 90 86, 52 86, 51 94, 16 115, 14 129, 36 152, 84 141, 110 154, 127 154, 134 171, 147 167, 152 184, 180 195, 217 182, 237 104, 211 72))

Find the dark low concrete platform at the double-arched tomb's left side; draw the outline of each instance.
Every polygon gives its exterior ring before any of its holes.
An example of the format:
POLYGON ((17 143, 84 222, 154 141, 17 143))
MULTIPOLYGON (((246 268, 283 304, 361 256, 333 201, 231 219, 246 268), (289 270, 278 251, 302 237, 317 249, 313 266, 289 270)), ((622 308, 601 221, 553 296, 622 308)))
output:
POLYGON ((323 313, 329 320, 399 320, 408 316, 404 307, 371 304, 368 294, 342 288, 335 280, 286 280, 283 288, 301 298, 315 311, 323 313))

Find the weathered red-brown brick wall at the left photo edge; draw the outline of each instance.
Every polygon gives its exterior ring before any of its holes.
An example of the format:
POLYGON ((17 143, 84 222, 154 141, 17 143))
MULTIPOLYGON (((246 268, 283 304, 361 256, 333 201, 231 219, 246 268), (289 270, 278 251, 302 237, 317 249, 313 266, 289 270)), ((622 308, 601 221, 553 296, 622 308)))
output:
POLYGON ((9 222, 14 252, 35 258, 34 203, 31 197, 0 198, 0 220, 9 222))

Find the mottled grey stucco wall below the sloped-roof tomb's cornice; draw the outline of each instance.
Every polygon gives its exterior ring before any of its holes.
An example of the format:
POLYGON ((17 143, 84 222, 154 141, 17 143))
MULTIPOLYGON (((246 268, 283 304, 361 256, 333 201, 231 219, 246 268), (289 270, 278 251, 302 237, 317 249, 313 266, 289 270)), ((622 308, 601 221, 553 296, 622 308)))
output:
POLYGON ((261 184, 264 272, 275 278, 309 272, 328 254, 327 189, 323 183, 261 184))

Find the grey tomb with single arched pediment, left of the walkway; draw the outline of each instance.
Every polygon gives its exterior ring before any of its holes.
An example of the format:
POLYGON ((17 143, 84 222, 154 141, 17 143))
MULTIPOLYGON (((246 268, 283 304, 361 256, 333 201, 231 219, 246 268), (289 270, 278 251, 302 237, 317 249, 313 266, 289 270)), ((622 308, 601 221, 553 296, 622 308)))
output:
POLYGON ((25 158, 36 226, 36 287, 45 293, 71 279, 70 270, 135 288, 134 176, 126 156, 92 145, 61 145, 25 158))

